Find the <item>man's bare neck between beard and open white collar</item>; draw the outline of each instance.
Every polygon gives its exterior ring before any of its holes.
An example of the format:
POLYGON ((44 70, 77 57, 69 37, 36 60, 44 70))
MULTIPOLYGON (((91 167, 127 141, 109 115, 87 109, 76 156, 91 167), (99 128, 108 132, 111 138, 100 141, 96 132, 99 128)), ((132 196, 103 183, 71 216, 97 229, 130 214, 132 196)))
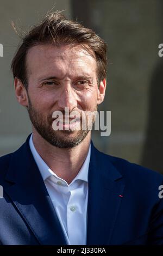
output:
POLYGON ((35 149, 48 167, 68 184, 70 184, 79 173, 89 151, 90 141, 91 132, 89 132, 83 142, 76 147, 62 149, 49 144, 36 130, 33 130, 35 149))

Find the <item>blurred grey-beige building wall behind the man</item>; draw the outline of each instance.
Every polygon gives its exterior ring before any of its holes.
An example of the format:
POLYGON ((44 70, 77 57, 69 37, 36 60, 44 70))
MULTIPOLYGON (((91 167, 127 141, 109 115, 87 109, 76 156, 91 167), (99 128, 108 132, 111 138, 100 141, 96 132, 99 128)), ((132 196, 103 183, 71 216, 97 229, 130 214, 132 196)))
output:
POLYGON ((11 21, 26 31, 52 8, 65 10, 108 44, 108 88, 99 110, 111 111, 111 135, 93 132, 96 147, 163 173, 162 0, 1 0, 0 155, 16 150, 31 132, 14 94, 10 63, 20 39, 11 21))

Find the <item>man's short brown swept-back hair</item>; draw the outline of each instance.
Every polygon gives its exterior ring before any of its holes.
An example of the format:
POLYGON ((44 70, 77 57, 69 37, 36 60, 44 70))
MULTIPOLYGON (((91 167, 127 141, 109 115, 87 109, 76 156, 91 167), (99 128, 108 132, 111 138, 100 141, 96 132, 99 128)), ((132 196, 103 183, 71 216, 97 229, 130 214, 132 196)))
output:
POLYGON ((82 45, 93 52, 97 62, 98 82, 106 77, 106 44, 92 29, 86 28, 77 21, 67 19, 61 11, 47 14, 39 25, 31 29, 23 38, 22 44, 12 59, 12 74, 28 87, 26 56, 29 48, 52 43, 61 45, 82 45))

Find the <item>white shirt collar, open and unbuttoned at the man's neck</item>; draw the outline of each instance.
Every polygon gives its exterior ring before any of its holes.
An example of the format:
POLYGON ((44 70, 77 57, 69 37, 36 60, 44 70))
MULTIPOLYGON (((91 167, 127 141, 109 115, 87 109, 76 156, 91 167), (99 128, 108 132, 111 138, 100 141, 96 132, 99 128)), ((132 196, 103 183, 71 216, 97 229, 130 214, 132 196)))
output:
MULTIPOLYGON (((57 174, 55 174, 45 163, 45 161, 43 161, 43 159, 41 158, 41 156, 39 155, 39 153, 37 153, 37 150, 35 149, 35 146, 33 144, 33 137, 32 135, 30 136, 29 139, 29 147, 30 150, 32 152, 32 155, 34 157, 34 160, 37 164, 37 167, 40 170, 42 179, 45 181, 46 179, 49 178, 49 176, 55 176, 56 178, 60 179, 57 174)), ((83 180, 88 182, 88 172, 89 172, 89 163, 90 163, 90 156, 91 156, 91 144, 89 147, 89 151, 87 153, 86 159, 82 165, 82 167, 79 170, 79 173, 77 174, 77 176, 73 179, 72 182, 74 182, 75 180, 83 180)), ((72 183, 71 182, 71 183, 72 183)))

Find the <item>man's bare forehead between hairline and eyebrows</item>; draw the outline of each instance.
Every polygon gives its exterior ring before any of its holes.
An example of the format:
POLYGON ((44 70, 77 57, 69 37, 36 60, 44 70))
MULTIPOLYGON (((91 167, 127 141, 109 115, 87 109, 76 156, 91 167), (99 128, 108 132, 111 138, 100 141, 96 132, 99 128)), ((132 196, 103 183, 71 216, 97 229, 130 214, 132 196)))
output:
POLYGON ((80 45, 53 46, 36 45, 29 49, 26 58, 28 74, 35 75, 45 72, 64 73, 67 70, 73 72, 96 72, 96 58, 93 52, 86 51, 80 45))

